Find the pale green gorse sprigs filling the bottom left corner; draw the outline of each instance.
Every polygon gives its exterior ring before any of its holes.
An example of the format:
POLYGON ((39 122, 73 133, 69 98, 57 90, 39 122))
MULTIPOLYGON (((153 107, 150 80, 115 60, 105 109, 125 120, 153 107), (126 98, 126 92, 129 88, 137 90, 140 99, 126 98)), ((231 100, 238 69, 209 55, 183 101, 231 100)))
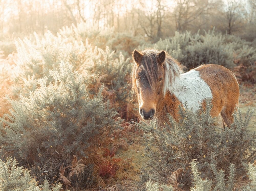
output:
POLYGON ((35 179, 30 176, 30 172, 24 167, 18 167, 17 161, 11 157, 6 162, 0 159, 0 188, 2 191, 24 190, 24 191, 59 191, 61 184, 56 184, 50 188, 48 181, 38 186, 35 179))

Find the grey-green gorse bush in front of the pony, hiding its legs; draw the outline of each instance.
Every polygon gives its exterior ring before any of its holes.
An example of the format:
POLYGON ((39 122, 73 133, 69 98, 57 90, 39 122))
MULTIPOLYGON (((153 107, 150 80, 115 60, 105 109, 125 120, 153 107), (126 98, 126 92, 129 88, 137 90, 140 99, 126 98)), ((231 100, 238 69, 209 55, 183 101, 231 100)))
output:
POLYGON ((142 183, 153 180, 170 184, 170 175, 183 169, 181 186, 191 187, 193 179, 188 167, 193 159, 197 159, 201 178, 212 180, 216 189, 219 169, 230 176, 232 163, 236 164, 236 176, 244 173, 243 162, 254 161, 256 157, 256 135, 247 130, 253 113, 247 111, 243 118, 238 111, 231 127, 221 129, 213 125, 210 109, 210 102, 205 111, 201 109, 196 113, 180 107, 180 121, 176 122, 169 116, 169 121, 161 128, 154 123, 139 124, 145 130, 145 156, 149 157, 142 169, 142 183))

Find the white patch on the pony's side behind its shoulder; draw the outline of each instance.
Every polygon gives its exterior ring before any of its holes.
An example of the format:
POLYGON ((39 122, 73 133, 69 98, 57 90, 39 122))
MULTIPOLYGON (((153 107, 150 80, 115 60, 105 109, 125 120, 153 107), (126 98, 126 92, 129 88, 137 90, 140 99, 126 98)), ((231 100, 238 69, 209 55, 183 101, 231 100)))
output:
POLYGON ((200 108, 202 101, 206 98, 212 99, 210 87, 205 83, 199 72, 190 70, 175 78, 173 86, 169 87, 169 91, 173 93, 181 103, 187 102, 187 107, 194 112, 200 108))

